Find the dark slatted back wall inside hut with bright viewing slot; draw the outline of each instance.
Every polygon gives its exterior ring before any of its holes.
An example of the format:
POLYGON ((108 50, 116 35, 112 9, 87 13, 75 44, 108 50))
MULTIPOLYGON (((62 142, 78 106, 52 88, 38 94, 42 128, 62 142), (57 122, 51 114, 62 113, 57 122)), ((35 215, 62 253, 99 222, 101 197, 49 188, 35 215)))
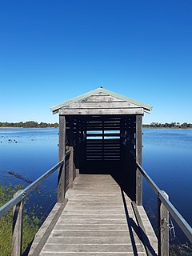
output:
POLYGON ((93 117, 84 122, 80 172, 111 174, 121 164, 121 118, 93 117))

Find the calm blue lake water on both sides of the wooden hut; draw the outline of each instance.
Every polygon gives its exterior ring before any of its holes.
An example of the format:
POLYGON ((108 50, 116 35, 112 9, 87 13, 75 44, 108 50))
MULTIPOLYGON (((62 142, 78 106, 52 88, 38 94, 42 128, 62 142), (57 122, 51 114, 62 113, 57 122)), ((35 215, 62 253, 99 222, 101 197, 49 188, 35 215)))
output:
MULTIPOLYGON (((57 161, 58 129, 0 129, 2 184, 27 186, 27 181, 8 172, 34 181, 57 161)), ((192 226, 192 130, 143 129, 143 167, 192 226)), ((56 191, 56 175, 45 183, 46 189, 56 191)), ((146 210, 155 222, 156 197, 145 181, 143 194, 146 210)))

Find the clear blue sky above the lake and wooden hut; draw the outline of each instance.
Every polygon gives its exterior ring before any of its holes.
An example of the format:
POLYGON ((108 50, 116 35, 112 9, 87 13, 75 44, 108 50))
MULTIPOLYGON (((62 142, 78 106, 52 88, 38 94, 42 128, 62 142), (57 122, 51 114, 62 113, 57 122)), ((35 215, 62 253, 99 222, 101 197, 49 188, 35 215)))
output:
POLYGON ((58 122, 50 107, 103 86, 192 122, 191 0, 0 2, 0 122, 58 122))

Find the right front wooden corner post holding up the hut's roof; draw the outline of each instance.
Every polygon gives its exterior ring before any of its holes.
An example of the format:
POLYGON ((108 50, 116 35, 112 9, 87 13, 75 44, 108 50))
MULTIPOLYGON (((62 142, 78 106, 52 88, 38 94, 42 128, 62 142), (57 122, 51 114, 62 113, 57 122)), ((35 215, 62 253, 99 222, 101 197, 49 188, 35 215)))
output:
MULTIPOLYGON (((136 115, 136 162, 142 166, 142 115, 136 115)), ((142 174, 136 170, 136 205, 142 206, 142 174)))

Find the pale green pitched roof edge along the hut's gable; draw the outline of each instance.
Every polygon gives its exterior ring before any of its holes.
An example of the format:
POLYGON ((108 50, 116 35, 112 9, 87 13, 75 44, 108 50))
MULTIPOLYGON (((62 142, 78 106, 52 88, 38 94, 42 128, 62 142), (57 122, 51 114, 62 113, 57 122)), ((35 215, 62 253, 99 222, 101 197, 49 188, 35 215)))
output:
POLYGON ((88 98, 90 96, 93 96, 94 94, 99 94, 99 93, 110 95, 112 97, 121 99, 121 100, 123 100, 125 102, 130 102, 130 103, 133 103, 133 104, 135 104, 137 106, 141 106, 144 109, 144 111, 146 110, 146 112, 150 112, 150 110, 152 110, 152 108, 153 108, 153 106, 150 106, 150 105, 148 105, 146 103, 139 102, 139 101, 137 101, 137 100, 135 100, 133 98, 128 98, 126 96, 123 96, 122 94, 117 94, 117 93, 115 93, 115 92, 113 92, 111 90, 106 90, 106 89, 104 89, 102 87, 99 87, 98 89, 91 90, 90 92, 87 92, 86 94, 79 95, 78 97, 71 98, 70 100, 67 100, 66 102, 62 102, 62 103, 60 103, 58 105, 52 106, 51 107, 51 111, 55 114, 62 107, 70 106, 71 103, 82 101, 84 98, 88 98))

